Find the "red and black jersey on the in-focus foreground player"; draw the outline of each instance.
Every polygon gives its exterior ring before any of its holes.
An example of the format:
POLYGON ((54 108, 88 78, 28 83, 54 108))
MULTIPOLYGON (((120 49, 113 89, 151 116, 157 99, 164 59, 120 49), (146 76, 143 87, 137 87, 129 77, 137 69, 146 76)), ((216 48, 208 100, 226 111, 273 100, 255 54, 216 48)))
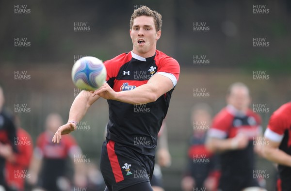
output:
POLYGON ((146 84, 155 74, 168 77, 173 89, 155 102, 132 105, 107 100, 109 121, 106 138, 146 155, 155 155, 158 132, 168 111, 171 94, 177 84, 180 67, 178 62, 156 50, 154 56, 143 58, 132 51, 104 62, 107 83, 114 91, 130 91, 146 84))

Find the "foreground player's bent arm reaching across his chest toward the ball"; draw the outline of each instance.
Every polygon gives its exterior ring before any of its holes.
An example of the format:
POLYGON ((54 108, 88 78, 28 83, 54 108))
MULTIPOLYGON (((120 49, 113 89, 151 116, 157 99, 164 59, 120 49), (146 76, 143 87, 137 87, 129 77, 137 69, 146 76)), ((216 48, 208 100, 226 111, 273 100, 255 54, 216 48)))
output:
POLYGON ((161 74, 155 74, 146 84, 130 91, 115 92, 107 83, 104 83, 93 96, 113 99, 129 104, 146 104, 156 101, 160 96, 173 88, 173 82, 161 74))

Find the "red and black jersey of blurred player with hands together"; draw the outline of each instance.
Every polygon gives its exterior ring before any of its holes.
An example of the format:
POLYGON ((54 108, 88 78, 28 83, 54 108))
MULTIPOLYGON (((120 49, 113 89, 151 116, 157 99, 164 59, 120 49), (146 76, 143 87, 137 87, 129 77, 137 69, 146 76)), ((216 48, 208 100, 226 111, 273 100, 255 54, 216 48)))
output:
POLYGON ((229 177, 239 177, 245 181, 243 183, 245 185, 247 182, 253 181, 254 140, 260 135, 260 132, 261 119, 251 110, 244 113, 236 110, 232 105, 228 105, 214 117, 208 136, 227 139, 243 133, 249 139, 249 144, 244 149, 229 150, 220 155, 221 184, 230 185, 229 177))

